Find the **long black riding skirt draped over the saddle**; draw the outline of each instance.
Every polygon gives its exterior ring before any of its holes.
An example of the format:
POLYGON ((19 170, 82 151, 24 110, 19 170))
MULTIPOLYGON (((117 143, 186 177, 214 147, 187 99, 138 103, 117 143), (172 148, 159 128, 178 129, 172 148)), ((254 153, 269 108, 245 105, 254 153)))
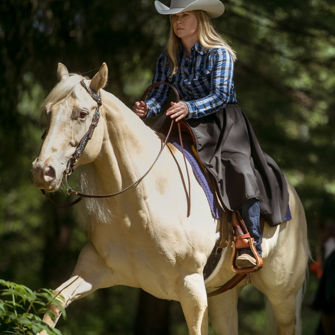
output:
MULTIPOLYGON (((185 122, 195 137, 200 160, 213 175, 228 210, 257 198, 270 226, 281 223, 288 208, 287 184, 275 161, 262 151, 249 120, 238 104, 185 122)), ((152 128, 165 132, 165 113, 152 128)))

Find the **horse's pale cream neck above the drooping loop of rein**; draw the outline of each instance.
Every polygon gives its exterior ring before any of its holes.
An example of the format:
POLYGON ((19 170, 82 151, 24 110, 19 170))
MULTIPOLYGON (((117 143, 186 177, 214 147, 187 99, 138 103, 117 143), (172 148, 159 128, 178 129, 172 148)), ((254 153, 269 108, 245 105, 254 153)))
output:
POLYGON ((161 141, 114 95, 103 91, 102 100, 105 135, 95 167, 101 180, 110 181, 107 189, 120 190, 145 173, 159 152, 161 141))

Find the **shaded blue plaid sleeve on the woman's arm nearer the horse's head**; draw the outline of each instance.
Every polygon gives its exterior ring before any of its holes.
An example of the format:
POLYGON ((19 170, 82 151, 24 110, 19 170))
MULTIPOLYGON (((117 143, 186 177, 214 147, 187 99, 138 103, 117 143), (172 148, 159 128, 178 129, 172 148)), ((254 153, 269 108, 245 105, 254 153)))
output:
MULTIPOLYGON (((162 52, 157 59, 152 83, 168 81, 166 76, 167 72, 164 62, 164 52, 162 52)), ((152 89, 149 92, 148 97, 145 99, 145 103, 148 105, 149 110, 146 117, 143 119, 148 119, 152 116, 159 114, 161 108, 166 103, 169 93, 170 93, 170 86, 163 84, 156 86, 154 89, 152 89)))

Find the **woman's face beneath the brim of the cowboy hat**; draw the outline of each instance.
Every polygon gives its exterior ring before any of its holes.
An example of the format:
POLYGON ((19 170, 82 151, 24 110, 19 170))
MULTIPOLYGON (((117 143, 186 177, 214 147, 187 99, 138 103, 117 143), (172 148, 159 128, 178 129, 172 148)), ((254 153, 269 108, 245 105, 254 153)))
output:
POLYGON ((192 11, 172 14, 171 24, 175 34, 182 40, 198 40, 198 21, 192 11))

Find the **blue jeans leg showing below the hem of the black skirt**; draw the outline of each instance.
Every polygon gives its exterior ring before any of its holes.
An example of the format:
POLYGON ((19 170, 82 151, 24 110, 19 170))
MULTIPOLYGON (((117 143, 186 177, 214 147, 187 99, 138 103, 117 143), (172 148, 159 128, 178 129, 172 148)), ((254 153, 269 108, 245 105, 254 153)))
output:
MULTIPOLYGON (((248 199, 239 208, 242 219, 250 233, 250 236, 255 239, 255 247, 259 255, 262 257, 262 232, 260 227, 260 209, 259 201, 255 198, 248 199)), ((240 249, 239 253, 248 253, 253 255, 249 248, 240 249)))

